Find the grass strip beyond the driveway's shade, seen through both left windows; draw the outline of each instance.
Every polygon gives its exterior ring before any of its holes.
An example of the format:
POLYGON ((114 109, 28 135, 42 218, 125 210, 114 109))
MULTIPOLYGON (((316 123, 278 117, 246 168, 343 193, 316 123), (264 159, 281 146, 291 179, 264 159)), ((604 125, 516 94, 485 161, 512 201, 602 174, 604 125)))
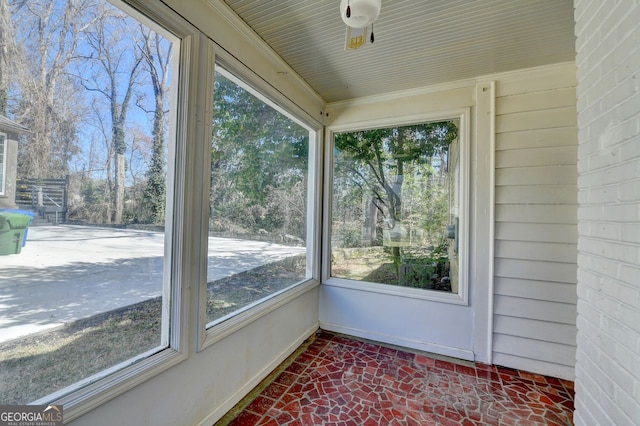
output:
MULTIPOLYGON (((209 283, 207 321, 304 278, 304 256, 209 283)), ((0 343, 0 404, 27 404, 154 348, 161 349, 161 299, 94 315, 0 343)))

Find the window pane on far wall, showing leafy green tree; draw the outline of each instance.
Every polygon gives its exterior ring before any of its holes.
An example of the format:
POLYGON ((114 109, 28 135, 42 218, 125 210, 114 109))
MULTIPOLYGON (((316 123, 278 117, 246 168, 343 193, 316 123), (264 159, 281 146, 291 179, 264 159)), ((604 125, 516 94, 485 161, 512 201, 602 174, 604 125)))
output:
POLYGON ((458 292, 457 129, 335 134, 332 277, 458 292))

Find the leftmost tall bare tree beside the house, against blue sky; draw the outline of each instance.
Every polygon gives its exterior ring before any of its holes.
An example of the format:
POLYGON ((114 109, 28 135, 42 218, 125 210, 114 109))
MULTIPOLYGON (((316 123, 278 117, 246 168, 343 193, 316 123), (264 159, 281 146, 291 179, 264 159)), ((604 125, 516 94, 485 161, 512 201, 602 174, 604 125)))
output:
POLYGON ((19 171, 29 177, 64 176, 81 120, 79 87, 69 65, 78 59, 83 34, 100 18, 95 0, 0 2, 12 8, 16 46, 23 55, 13 55, 7 68, 19 85, 15 115, 33 132, 21 144, 19 171))

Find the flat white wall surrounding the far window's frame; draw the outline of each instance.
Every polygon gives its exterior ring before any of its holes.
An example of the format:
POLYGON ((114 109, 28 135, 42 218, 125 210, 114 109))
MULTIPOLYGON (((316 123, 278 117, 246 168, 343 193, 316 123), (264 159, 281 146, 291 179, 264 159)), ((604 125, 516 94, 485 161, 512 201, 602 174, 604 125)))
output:
MULTIPOLYGON (((407 120, 415 123, 444 119, 447 118, 447 112, 466 109, 470 118, 470 140, 463 137, 461 143, 470 146, 470 170, 476 169, 478 164, 486 169, 488 163, 482 153, 490 151, 491 147, 487 139, 476 139, 473 130, 475 105, 476 81, 332 103, 326 109, 329 114, 327 134, 331 130, 356 130, 358 126, 392 126, 408 124, 407 120), (434 118, 439 114, 439 118, 434 118), (479 157, 483 159, 478 160, 479 157)), ((489 182, 479 178, 476 173, 470 174, 470 196, 466 203, 468 220, 477 223, 476 212, 489 209, 489 182)), ((475 253, 470 256, 473 264, 469 271, 473 272, 467 271, 468 304, 413 297, 411 292, 403 294, 402 289, 392 286, 382 286, 389 287, 387 292, 380 288, 371 291, 370 285, 349 286, 330 279, 320 288, 321 328, 463 359, 484 360, 486 350, 478 350, 474 339, 474 330, 477 329, 474 310, 480 312, 486 308, 487 304, 482 303, 483 296, 480 295, 484 295, 486 302, 489 276, 475 273, 474 268, 478 264, 488 264, 490 259, 486 250, 479 248, 478 244, 482 242, 477 240, 474 228, 471 228, 469 245, 461 249, 475 253), (483 307, 478 308, 480 305, 483 307)), ((482 342, 486 342, 485 334, 478 335, 482 342)))

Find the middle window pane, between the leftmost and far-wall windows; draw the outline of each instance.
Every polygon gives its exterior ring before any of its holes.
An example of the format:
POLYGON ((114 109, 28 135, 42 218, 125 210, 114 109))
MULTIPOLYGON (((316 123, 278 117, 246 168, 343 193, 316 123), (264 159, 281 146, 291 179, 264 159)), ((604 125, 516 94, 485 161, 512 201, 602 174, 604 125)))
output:
POLYGON ((215 74, 207 322, 307 277, 309 130, 215 74))

